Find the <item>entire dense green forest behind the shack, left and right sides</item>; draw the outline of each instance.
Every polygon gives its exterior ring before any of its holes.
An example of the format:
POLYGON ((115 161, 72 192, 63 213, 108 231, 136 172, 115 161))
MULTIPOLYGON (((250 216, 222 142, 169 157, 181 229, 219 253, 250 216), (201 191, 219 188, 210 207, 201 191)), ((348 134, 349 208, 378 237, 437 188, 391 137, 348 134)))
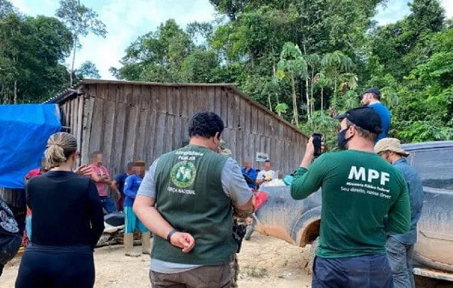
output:
MULTIPOLYGON (((330 116, 381 89, 403 142, 453 138, 453 21, 438 0, 413 0, 396 23, 373 21, 385 0, 210 0, 212 23, 169 19, 127 47, 117 79, 236 83, 248 96, 336 142, 330 116)), ((0 0, 0 98, 38 101, 74 76, 98 78, 91 62, 61 63, 86 33, 105 36, 96 12, 61 0, 56 18, 22 16, 0 0)))

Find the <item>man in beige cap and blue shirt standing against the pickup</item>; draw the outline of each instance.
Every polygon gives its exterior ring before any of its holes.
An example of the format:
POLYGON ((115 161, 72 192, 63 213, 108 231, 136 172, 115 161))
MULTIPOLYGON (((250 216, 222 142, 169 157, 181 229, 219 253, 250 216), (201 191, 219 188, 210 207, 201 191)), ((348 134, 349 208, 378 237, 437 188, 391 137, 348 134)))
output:
POLYGON ((411 200, 411 229, 406 234, 389 235, 386 250, 394 276, 395 288, 414 288, 412 254, 413 246, 417 242, 417 222, 423 208, 422 180, 415 169, 406 161, 409 154, 401 149, 401 143, 398 139, 381 139, 374 146, 374 152, 401 171, 408 185, 411 200))

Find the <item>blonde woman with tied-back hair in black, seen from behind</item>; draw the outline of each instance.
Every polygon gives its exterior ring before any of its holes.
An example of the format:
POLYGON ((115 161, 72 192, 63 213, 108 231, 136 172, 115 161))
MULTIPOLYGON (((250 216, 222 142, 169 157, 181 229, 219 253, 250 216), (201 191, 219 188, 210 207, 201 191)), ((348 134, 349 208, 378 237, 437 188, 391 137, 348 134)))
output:
POLYGON ((33 238, 19 267, 16 288, 93 287, 93 248, 103 229, 96 185, 72 172, 79 156, 68 133, 47 141, 47 173, 28 180, 27 204, 33 211, 33 238))

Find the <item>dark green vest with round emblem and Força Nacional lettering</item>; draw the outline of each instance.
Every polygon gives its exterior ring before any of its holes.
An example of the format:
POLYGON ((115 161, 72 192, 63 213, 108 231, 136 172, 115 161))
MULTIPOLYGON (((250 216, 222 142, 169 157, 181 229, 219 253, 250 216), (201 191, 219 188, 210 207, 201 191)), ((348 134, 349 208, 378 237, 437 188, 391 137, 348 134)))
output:
POLYGON ((222 188, 227 156, 188 145, 159 158, 156 167, 156 208, 178 231, 195 238, 183 253, 166 239, 154 237, 152 258, 193 265, 222 265, 236 250, 231 200, 222 188))

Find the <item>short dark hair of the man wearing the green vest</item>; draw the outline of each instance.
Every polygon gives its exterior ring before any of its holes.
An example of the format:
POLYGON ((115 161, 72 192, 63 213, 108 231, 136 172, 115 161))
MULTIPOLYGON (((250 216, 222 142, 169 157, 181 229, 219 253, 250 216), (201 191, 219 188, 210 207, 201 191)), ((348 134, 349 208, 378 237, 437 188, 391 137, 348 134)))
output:
POLYGON ((189 137, 211 138, 224 132, 224 122, 214 112, 200 112, 193 115, 189 123, 189 137))

